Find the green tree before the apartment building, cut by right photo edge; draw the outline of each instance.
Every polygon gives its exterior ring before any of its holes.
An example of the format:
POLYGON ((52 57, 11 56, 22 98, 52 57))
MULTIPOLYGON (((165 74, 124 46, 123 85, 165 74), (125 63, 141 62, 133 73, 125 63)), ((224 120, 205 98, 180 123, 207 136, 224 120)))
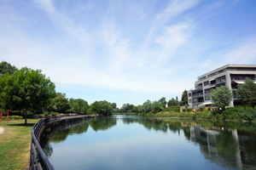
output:
POLYGON ((236 93, 245 105, 255 107, 256 105, 256 84, 253 80, 246 78, 244 84, 238 84, 236 93))

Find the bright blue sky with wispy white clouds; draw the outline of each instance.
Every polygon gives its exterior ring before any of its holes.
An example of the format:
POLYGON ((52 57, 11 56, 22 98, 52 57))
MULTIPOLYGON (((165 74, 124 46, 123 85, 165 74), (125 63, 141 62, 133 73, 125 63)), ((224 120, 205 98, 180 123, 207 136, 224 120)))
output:
POLYGON ((89 104, 181 99, 202 74, 256 64, 256 1, 0 0, 0 61, 89 104))

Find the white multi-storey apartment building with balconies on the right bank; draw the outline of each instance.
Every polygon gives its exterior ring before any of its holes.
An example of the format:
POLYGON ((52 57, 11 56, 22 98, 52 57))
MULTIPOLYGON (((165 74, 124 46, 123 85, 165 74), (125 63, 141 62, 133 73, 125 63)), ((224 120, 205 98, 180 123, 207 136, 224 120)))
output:
POLYGON ((244 83, 245 78, 256 83, 256 65, 224 65, 197 77, 195 89, 188 91, 189 108, 212 106, 211 89, 227 86, 232 90, 233 99, 230 106, 241 105, 236 96, 237 84, 244 83))

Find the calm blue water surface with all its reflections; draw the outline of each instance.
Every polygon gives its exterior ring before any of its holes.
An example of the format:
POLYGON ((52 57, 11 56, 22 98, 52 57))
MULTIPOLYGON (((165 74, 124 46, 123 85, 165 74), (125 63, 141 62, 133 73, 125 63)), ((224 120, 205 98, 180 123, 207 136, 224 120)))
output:
POLYGON ((253 123, 109 116, 46 131, 55 169, 256 169, 253 123))

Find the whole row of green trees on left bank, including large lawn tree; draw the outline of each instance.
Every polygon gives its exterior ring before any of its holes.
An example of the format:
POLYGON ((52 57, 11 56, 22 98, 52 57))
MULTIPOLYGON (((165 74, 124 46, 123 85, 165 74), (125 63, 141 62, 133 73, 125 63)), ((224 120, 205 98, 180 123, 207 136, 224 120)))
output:
POLYGON ((111 115, 115 103, 96 101, 88 105, 84 99, 67 99, 55 92, 55 83, 41 70, 20 70, 6 61, 0 63, 0 110, 22 111, 25 123, 30 114, 45 112, 111 115))

